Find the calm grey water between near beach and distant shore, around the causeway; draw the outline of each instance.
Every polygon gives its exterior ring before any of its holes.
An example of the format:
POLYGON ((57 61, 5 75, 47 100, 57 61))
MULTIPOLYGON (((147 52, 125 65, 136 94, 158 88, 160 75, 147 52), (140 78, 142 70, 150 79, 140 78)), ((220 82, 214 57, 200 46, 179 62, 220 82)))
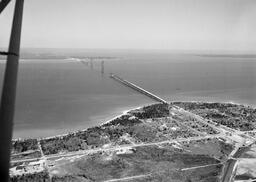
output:
MULTIPOLYGON (((105 60, 104 74, 100 61, 88 66, 71 60, 21 61, 14 137, 84 129, 123 110, 154 102, 110 79, 109 73, 167 100, 256 105, 255 58, 157 53, 113 56, 118 59, 105 60)), ((1 78, 3 70, 1 63, 1 78)))

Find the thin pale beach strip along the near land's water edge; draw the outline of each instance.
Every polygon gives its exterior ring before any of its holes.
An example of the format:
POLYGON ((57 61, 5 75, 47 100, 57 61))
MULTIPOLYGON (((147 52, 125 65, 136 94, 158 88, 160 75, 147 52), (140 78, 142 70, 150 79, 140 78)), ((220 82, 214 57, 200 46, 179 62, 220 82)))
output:
MULTIPOLYGON (((190 102, 190 103, 220 103, 220 104, 233 104, 233 105, 242 105, 242 106, 246 106, 246 107, 251 107, 253 109, 256 109, 256 107, 252 106, 252 105, 248 105, 248 104, 241 104, 241 103, 237 103, 237 102, 233 102, 233 101, 229 101, 229 102, 214 102, 214 101, 195 101, 195 100, 192 100, 192 101, 168 101, 168 103, 173 103, 173 102, 190 102)), ((140 106, 137 106, 137 107, 133 107, 131 109, 126 109, 126 110, 123 110, 121 114, 118 114, 116 116, 114 116, 113 118, 110 118, 104 122, 102 122, 101 124, 99 125, 95 125, 95 126, 91 126, 91 127, 87 127, 87 128, 84 128, 84 129, 81 129, 81 130, 75 130, 75 131, 71 131, 71 132, 67 132, 67 133, 63 133, 63 134, 58 134, 58 135, 53 135, 53 136, 48 136, 48 137, 31 137, 31 138, 13 138, 12 141, 22 141, 22 140, 27 140, 27 139, 37 139, 37 140, 44 140, 44 139, 52 139, 52 138, 58 138, 58 137, 64 137, 64 136, 67 136, 69 134, 75 134, 79 131, 86 131, 88 130, 89 128, 93 128, 93 127, 96 127, 96 126, 103 126, 104 124, 107 124, 107 123, 110 123, 111 121, 115 120, 116 118, 119 118, 123 115, 126 115, 128 112, 132 111, 132 110, 136 110, 136 109, 142 109, 144 107, 147 107, 147 106, 150 106, 150 105, 153 105, 153 104, 157 104, 157 102, 152 102, 151 104, 146 104, 146 105, 140 105, 140 106)))

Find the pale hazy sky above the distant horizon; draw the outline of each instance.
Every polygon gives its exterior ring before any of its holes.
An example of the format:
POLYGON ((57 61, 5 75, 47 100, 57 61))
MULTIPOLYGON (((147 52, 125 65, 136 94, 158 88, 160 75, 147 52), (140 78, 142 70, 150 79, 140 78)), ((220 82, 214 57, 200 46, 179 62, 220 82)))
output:
POLYGON ((23 20, 22 47, 256 51, 256 0, 25 0, 23 20))

